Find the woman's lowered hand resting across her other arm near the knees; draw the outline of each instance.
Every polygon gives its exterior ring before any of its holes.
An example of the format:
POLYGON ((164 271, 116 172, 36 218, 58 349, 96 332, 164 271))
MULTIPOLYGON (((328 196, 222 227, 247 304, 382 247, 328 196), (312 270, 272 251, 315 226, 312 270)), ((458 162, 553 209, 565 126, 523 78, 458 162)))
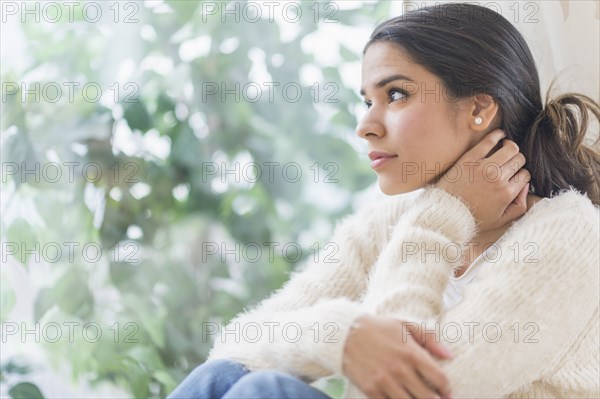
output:
POLYGON ((369 398, 449 397, 449 381, 428 352, 449 357, 435 336, 389 317, 367 315, 356 323, 344 346, 343 372, 369 398))

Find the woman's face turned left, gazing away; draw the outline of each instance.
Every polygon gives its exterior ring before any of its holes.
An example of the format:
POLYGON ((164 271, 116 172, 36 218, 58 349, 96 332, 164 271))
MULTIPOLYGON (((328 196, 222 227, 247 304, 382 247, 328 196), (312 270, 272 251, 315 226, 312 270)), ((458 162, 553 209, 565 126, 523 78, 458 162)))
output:
POLYGON ((473 101, 451 99, 437 76, 388 42, 368 47, 361 94, 368 111, 356 133, 369 142, 371 167, 388 195, 434 182, 485 133, 474 125, 481 114, 473 101))

